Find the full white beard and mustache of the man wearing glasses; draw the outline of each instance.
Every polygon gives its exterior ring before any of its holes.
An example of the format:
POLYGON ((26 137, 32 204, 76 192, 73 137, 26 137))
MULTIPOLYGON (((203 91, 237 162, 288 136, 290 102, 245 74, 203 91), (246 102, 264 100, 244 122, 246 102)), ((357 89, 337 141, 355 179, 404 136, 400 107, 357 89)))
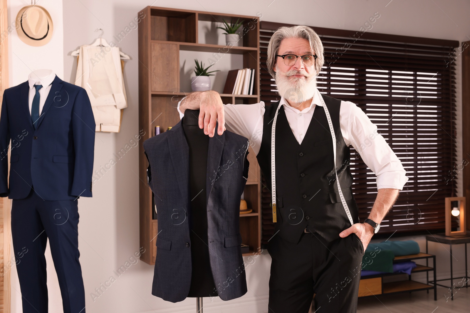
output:
POLYGON ((277 64, 275 81, 279 95, 284 97, 284 99, 288 100, 291 104, 298 103, 300 105, 302 102, 312 99, 317 91, 315 75, 295 69, 282 73, 277 67, 277 64), (305 77, 290 77, 292 75, 304 75, 305 77))

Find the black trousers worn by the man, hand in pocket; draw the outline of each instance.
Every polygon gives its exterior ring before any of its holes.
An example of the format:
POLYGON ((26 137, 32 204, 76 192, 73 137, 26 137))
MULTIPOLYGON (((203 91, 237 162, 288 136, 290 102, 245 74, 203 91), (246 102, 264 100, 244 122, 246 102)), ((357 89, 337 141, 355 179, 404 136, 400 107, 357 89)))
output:
POLYGON ((327 242, 304 233, 298 244, 274 235, 267 250, 272 258, 269 313, 355 313, 363 245, 356 234, 327 242), (316 311, 318 310, 318 311, 316 311))

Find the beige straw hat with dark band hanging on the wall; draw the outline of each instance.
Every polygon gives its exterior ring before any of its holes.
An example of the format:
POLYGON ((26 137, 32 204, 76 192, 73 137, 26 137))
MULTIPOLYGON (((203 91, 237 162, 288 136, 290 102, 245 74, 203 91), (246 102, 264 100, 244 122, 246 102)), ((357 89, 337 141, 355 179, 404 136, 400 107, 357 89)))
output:
POLYGON ((44 46, 52 38, 52 19, 49 12, 41 6, 32 5, 22 8, 16 15, 18 37, 27 45, 44 46))

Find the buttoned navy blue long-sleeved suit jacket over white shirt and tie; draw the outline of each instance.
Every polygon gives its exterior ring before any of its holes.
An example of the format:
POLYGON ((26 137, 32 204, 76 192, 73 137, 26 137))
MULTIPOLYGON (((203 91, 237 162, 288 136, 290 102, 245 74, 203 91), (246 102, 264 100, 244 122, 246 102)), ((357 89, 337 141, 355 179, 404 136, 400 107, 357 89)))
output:
POLYGON ((0 119, 0 197, 45 200, 92 196, 94 116, 85 89, 55 76, 34 130, 28 82, 3 93, 0 119), (8 144, 12 140, 10 181, 8 144), (9 187, 9 188, 8 188, 9 187))

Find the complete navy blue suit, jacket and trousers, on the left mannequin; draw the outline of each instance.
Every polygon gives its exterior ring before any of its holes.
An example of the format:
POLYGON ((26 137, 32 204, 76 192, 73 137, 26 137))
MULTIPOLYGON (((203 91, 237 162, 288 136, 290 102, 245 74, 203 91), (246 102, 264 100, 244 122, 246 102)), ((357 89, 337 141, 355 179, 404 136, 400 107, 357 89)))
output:
POLYGON ((47 313, 48 238, 63 311, 85 313, 77 199, 92 196, 93 111, 85 89, 55 76, 34 129, 28 97, 28 82, 5 90, 0 116, 0 196, 13 199, 11 229, 23 312, 47 313))

